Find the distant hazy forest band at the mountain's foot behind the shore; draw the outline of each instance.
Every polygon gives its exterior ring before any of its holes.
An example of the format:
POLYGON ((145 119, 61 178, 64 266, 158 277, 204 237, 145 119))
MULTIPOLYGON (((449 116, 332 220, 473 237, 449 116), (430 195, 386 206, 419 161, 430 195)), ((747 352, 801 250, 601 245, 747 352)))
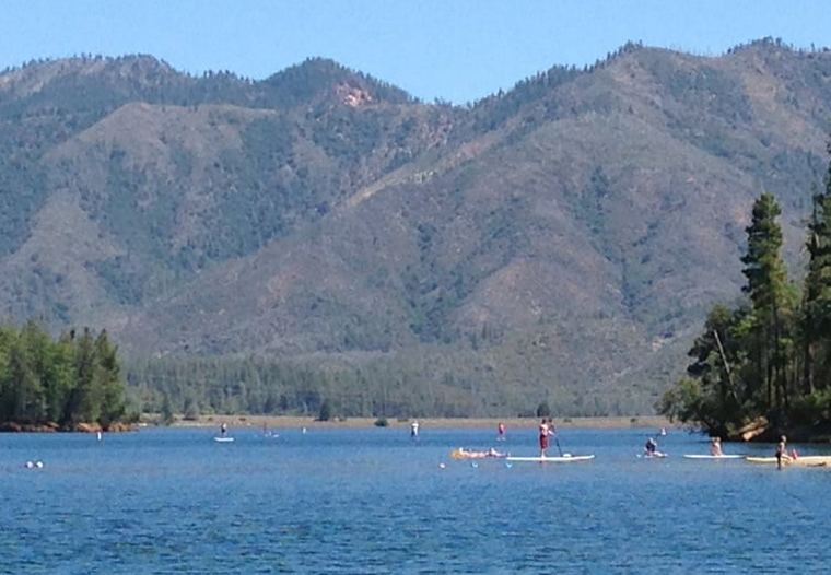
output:
POLYGON ((482 368, 484 353, 433 347, 361 360, 163 356, 132 359, 125 372, 131 401, 162 419, 318 418, 321 411, 331 418, 535 416, 542 402, 557 416, 652 412, 654 399, 633 397, 622 386, 588 394, 550 378, 531 385, 510 379, 511 366, 490 373, 482 368))

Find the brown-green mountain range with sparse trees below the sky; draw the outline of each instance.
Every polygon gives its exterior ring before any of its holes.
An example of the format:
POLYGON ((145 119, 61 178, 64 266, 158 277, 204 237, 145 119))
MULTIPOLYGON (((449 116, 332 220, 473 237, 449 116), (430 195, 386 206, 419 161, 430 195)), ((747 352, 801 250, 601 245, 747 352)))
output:
POLYGON ((136 357, 415 362, 471 413, 645 412, 739 297, 763 190, 800 273, 829 110, 831 52, 772 40, 630 44, 466 107, 323 59, 33 62, 0 74, 0 310, 136 357))

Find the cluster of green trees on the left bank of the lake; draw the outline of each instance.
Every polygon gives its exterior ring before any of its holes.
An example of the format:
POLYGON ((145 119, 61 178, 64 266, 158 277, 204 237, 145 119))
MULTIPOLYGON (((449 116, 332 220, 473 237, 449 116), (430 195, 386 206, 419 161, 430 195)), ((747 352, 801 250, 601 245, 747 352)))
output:
POLYGON ((0 424, 109 429, 125 418, 121 367, 106 331, 54 339, 35 321, 0 326, 0 424))

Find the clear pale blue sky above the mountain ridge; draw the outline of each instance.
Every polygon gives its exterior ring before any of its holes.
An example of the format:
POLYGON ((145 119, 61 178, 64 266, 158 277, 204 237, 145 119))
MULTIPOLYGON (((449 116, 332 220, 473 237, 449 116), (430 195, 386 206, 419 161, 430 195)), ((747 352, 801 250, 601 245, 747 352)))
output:
POLYGON ((90 52, 266 78, 332 58, 411 94, 478 99, 627 40, 717 55, 763 36, 831 46, 820 0, 2 0, 0 68, 90 52))

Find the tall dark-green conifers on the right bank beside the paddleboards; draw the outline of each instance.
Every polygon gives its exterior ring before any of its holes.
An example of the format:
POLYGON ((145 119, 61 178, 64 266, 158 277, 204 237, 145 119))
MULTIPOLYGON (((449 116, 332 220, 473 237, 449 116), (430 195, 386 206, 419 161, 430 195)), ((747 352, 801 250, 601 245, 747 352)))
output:
POLYGON ((745 296, 712 308, 689 351, 687 376, 659 402, 662 413, 734 438, 831 429, 831 164, 812 193, 800 282, 782 259, 780 213, 770 193, 753 203, 741 258, 745 296))

